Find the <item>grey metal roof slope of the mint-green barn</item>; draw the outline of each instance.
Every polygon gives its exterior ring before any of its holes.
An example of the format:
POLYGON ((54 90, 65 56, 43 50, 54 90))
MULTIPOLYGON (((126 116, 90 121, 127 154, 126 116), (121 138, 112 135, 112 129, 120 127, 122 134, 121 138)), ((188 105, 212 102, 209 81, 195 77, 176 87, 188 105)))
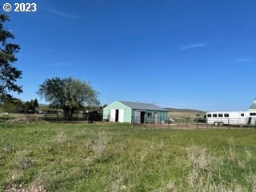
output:
POLYGON ((118 102, 121 102, 122 104, 130 107, 133 110, 161 110, 161 111, 168 111, 168 110, 165 110, 165 109, 161 108, 160 106, 156 106, 156 105, 150 104, 150 103, 122 102, 122 101, 118 101, 118 102))

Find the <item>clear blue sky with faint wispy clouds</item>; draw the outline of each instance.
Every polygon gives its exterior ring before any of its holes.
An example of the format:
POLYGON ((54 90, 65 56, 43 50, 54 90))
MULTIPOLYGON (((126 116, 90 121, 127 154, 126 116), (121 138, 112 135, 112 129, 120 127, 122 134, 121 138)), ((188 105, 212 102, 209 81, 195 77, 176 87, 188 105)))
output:
POLYGON ((256 98, 253 0, 26 2, 38 11, 10 12, 6 24, 21 46, 23 101, 69 76, 90 81, 102 104, 247 110, 256 98))

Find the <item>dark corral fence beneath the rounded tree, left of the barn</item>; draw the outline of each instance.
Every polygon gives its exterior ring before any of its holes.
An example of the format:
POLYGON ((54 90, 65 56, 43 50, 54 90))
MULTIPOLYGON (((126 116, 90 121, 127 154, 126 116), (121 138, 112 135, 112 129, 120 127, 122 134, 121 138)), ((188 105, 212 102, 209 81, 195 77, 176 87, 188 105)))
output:
POLYGON ((63 113, 46 113, 44 119, 46 121, 102 122, 102 113, 72 114, 71 116, 63 113))

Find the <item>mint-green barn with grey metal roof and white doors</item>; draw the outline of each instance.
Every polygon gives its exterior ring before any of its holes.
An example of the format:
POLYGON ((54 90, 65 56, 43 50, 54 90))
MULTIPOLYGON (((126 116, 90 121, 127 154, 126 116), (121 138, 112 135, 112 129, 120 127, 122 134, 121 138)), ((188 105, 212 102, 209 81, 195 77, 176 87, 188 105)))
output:
POLYGON ((103 109, 103 120, 109 122, 159 123, 168 120, 168 110, 149 103, 115 101, 103 109))

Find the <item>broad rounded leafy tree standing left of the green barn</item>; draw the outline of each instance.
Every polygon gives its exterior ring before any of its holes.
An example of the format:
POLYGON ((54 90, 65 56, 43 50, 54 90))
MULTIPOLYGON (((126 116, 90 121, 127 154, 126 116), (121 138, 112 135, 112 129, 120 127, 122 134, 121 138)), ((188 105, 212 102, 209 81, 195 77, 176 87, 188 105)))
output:
POLYGON ((46 102, 61 108, 66 117, 84 106, 98 106, 98 92, 89 82, 74 78, 46 78, 39 86, 38 95, 46 102))

